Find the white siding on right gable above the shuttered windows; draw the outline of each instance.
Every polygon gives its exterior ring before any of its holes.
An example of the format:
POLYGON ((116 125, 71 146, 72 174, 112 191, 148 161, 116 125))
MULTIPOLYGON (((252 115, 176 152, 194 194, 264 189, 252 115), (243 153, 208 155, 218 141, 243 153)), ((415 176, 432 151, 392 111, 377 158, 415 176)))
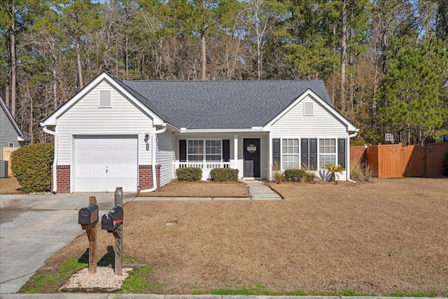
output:
POLYGON ((305 97, 271 127, 272 138, 283 136, 346 137, 346 125, 311 97, 305 97), (314 116, 304 116, 304 102, 314 102, 314 116))

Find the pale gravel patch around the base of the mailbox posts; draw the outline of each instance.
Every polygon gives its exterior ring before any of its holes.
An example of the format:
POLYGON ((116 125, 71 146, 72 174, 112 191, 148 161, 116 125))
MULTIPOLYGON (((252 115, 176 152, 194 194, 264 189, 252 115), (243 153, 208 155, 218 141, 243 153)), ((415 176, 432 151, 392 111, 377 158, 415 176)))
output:
POLYGON ((123 275, 118 276, 113 272, 111 267, 97 267, 97 273, 89 274, 89 268, 84 268, 73 274, 69 281, 62 286, 62 291, 73 291, 82 288, 105 288, 105 289, 121 289, 123 288, 123 280, 129 277, 127 271, 132 268, 123 268, 123 275))

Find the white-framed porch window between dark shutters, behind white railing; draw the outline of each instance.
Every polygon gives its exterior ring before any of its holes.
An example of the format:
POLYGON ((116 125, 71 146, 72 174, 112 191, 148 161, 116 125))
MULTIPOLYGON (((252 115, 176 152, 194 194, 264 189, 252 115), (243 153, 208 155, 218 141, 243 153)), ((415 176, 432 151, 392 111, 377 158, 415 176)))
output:
POLYGON ((221 140, 188 140, 188 162, 221 162, 221 140))

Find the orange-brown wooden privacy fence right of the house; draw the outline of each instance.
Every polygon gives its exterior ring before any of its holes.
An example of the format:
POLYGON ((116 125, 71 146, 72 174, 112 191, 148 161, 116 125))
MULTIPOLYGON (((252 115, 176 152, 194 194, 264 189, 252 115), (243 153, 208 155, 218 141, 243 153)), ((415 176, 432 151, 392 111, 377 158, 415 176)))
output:
POLYGON ((367 161, 377 169, 379 178, 433 178, 443 176, 445 153, 448 153, 448 142, 404 147, 401 143, 379 144, 367 148, 351 146, 350 165, 356 165, 360 160, 367 161))

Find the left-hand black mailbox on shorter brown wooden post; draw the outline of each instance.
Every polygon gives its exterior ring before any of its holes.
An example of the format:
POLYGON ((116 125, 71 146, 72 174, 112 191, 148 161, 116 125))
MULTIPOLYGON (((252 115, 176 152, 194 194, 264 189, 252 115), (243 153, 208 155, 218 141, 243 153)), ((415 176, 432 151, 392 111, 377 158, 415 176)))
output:
POLYGON ((97 198, 89 197, 89 205, 79 210, 78 223, 85 230, 89 239, 89 274, 97 273, 97 198))

